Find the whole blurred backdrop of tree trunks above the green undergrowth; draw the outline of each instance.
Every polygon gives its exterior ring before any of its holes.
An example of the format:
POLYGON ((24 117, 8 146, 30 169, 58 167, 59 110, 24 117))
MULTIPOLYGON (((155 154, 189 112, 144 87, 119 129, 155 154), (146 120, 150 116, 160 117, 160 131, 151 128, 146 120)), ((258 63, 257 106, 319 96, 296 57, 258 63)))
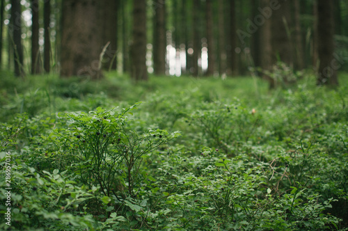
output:
POLYGON ((22 77, 252 73, 274 87, 279 62, 318 84, 347 70, 343 0, 2 0, 1 22, 1 69, 22 77))

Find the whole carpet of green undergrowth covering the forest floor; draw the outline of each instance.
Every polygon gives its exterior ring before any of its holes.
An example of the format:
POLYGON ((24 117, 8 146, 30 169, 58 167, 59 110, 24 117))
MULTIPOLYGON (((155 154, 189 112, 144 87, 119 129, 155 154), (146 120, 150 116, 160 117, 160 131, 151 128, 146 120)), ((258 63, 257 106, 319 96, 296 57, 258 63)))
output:
POLYGON ((347 74, 1 81, 1 230, 348 228, 347 74))

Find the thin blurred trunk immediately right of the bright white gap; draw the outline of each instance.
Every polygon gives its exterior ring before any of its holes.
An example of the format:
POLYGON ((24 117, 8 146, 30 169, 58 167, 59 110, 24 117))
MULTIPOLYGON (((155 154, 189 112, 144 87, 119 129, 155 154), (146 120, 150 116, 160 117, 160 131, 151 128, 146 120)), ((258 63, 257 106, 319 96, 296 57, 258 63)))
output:
POLYGON ((208 48, 208 69, 207 76, 214 75, 215 72, 215 51, 213 35, 213 7, 212 0, 206 0, 206 26, 207 26, 207 48, 208 48))

